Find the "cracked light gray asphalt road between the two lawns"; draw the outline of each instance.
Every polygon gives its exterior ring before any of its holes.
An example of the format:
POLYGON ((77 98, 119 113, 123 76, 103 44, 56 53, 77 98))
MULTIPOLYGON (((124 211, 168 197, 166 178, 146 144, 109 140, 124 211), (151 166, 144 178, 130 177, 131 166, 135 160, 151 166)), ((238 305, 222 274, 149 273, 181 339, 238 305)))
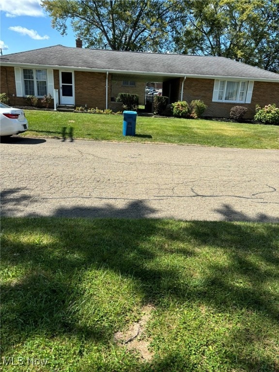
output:
POLYGON ((279 222, 279 151, 15 137, 1 216, 279 222))

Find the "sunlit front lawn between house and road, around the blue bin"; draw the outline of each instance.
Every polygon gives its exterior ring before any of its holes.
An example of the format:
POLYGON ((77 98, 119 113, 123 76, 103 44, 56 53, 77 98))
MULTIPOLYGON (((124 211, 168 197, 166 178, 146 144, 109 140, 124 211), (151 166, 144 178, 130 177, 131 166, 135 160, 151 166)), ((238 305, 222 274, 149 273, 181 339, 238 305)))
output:
POLYGON ((279 149, 279 126, 211 120, 137 117, 136 136, 123 136, 123 116, 25 110, 30 129, 23 136, 198 144, 217 147, 279 149))

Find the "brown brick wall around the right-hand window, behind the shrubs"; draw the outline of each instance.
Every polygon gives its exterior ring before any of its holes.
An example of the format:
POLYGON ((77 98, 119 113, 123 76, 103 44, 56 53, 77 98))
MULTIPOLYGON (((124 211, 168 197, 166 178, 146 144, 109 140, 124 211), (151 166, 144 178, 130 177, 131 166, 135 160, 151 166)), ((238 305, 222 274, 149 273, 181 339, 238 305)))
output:
MULTIPOLYGON (((182 82, 183 78, 180 80, 182 82)), ((265 106, 275 103, 279 107, 279 83, 255 81, 250 104, 212 102, 213 88, 214 79, 186 78, 183 100, 190 103, 194 99, 201 99, 208 106, 203 115, 220 118, 229 118, 233 106, 247 107, 248 111, 245 115, 247 119, 254 117, 256 104, 265 106)), ((181 84, 179 89, 181 89, 181 84)))

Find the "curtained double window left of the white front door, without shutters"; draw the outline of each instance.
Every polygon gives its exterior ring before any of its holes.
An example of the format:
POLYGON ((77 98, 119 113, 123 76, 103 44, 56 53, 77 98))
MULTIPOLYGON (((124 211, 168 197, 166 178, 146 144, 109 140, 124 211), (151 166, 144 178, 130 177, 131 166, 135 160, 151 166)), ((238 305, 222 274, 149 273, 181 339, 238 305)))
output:
POLYGON ((47 94, 47 70, 23 69, 24 95, 43 97, 47 94))

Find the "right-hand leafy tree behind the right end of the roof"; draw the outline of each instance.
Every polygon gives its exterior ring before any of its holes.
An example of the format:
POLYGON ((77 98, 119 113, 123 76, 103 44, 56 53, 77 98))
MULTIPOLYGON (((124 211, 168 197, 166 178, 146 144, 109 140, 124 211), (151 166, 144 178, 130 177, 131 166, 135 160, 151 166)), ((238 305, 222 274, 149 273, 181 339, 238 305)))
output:
POLYGON ((279 0, 181 0, 177 7, 176 52, 279 72, 279 0))

